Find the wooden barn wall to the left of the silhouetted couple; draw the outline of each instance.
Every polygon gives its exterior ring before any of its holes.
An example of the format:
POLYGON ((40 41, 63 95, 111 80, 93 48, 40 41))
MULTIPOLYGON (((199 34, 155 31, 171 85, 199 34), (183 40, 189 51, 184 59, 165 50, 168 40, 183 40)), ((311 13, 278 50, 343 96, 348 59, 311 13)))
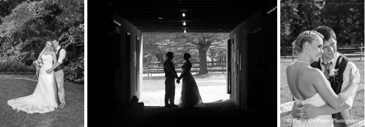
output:
MULTIPOLYGON (((127 100, 130 100, 132 96, 137 96, 137 92, 140 85, 140 56, 141 56, 141 45, 142 45, 142 32, 136 27, 125 21, 124 19, 113 15, 114 19, 121 23, 120 28, 120 40, 121 40, 121 56, 120 59, 123 72, 120 77, 122 83, 116 89, 116 96, 118 107, 120 107, 127 100), (129 34, 128 34, 129 33, 129 34), (139 40, 138 40, 139 38, 139 40)), ((138 96, 138 98, 140 98, 138 96)))

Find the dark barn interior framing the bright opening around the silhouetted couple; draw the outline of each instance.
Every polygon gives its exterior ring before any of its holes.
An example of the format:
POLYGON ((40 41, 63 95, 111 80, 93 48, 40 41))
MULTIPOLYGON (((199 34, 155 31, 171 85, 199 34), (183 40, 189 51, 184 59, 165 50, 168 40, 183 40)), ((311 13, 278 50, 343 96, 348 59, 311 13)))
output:
MULTIPOLYGON (((103 1, 89 3, 87 13, 88 114, 99 119, 89 120, 89 124, 157 126, 144 122, 145 113, 138 116, 141 112, 130 112, 131 107, 126 106, 131 97, 140 98, 143 90, 143 33, 184 30, 229 33, 226 91, 245 117, 234 115, 235 122, 218 123, 277 124, 277 1, 103 1)), ((218 125, 215 120, 219 119, 193 122, 218 125)), ((165 125, 163 119, 153 123, 158 122, 159 126, 190 125, 190 121, 165 125)))

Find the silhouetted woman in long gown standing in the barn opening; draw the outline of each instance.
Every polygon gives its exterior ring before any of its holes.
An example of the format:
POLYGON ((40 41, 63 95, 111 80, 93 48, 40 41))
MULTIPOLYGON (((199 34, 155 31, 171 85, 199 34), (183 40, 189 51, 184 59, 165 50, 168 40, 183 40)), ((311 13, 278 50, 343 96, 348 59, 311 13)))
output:
POLYGON ((180 98, 180 107, 182 108, 193 108, 198 104, 203 104, 195 79, 190 73, 192 65, 189 58, 191 58, 191 55, 189 53, 184 53, 184 59, 186 60, 186 62, 181 67, 183 72, 177 80, 177 82, 179 83, 180 79, 184 77, 182 81, 183 83, 180 98))

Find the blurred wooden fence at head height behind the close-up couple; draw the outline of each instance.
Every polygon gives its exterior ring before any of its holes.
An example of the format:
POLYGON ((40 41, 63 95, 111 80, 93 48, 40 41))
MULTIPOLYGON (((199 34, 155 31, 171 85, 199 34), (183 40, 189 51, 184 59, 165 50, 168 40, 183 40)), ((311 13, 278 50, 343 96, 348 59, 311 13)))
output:
MULTIPOLYGON (((360 60, 362 59, 362 56, 364 55, 364 46, 359 45, 359 46, 339 46, 337 47, 337 52, 340 52, 341 54, 345 55, 345 54, 358 54, 360 57, 360 60), (356 53, 359 52, 359 53, 356 53)), ((356 55, 356 56, 358 56, 356 55)), ((294 61, 294 56, 296 57, 297 54, 294 52, 294 50, 292 50, 292 47, 280 47, 280 56, 284 56, 284 58, 286 58, 286 56, 290 56, 293 61, 294 61)), ((346 55, 345 55, 346 56, 346 55)))

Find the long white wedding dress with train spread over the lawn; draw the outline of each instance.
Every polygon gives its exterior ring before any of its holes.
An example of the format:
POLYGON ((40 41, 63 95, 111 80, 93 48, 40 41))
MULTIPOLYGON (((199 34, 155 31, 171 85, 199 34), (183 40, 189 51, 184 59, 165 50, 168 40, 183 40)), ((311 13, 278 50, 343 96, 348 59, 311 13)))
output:
POLYGON ((42 55, 43 65, 39 71, 38 84, 34 93, 17 99, 9 100, 10 105, 14 110, 22 110, 26 113, 47 113, 58 107, 53 82, 53 71, 50 74, 46 70, 52 68, 52 55, 42 55))

